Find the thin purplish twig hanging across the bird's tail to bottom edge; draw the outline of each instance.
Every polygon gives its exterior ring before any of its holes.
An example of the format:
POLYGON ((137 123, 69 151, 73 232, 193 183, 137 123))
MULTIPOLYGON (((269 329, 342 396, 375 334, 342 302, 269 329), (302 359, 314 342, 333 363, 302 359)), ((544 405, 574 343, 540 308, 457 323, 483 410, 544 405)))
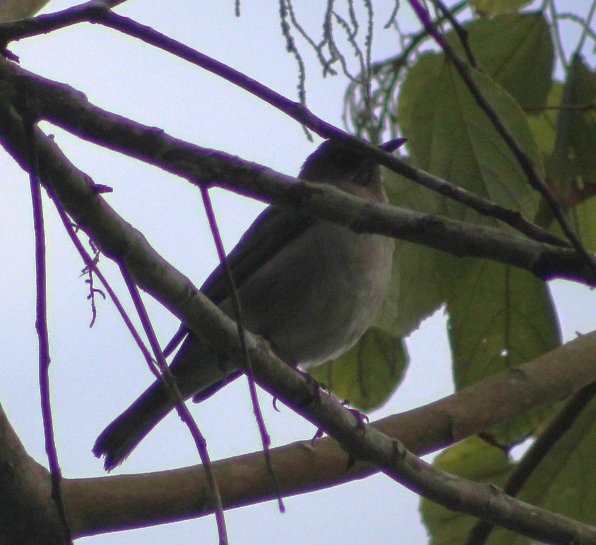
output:
MULTIPOLYGON (((123 262, 119 264, 122 278, 126 283, 129 293, 131 294, 132 301, 135 305, 135 310, 141 319, 145 335, 147 335, 149 344, 151 345, 151 350, 153 350, 153 354, 157 361, 157 366, 161 372, 159 376, 163 381, 163 385, 166 388, 168 395, 170 395, 170 398, 172 398, 172 401, 175 403, 178 416, 182 422, 187 425, 193 437, 195 446, 197 447, 201 462, 203 463, 203 468, 205 470, 207 482, 209 483, 209 489, 211 491, 213 504, 215 507, 215 520, 218 525, 219 545, 227 545, 228 531, 226 530, 224 507, 222 507, 218 483, 215 479, 215 475, 213 475, 213 468, 211 466, 211 460, 209 459, 209 452, 207 451, 207 441, 203 437, 203 434, 201 434, 197 423, 194 421, 193 415, 191 415, 190 410, 188 410, 188 407, 184 403, 184 399, 182 398, 182 395, 178 390, 178 386, 176 385, 176 380, 173 377, 170 368, 167 366, 166 359, 164 358, 162 349, 159 345, 159 341, 157 341, 157 335, 153 329, 153 324, 149 319, 147 309, 145 309, 145 305, 141 299, 141 294, 139 294, 139 290, 132 279, 131 273, 128 270, 128 266, 126 266, 126 264, 123 262)), ((147 363, 153 370, 153 360, 148 360, 147 363)))

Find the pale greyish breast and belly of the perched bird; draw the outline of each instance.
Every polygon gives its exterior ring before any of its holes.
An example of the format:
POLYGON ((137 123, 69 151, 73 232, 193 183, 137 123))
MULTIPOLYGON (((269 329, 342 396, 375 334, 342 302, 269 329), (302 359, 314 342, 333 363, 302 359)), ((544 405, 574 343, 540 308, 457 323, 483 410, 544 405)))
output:
POLYGON ((393 239, 318 221, 240 288, 244 324, 291 365, 333 359, 364 334, 389 285, 393 239))

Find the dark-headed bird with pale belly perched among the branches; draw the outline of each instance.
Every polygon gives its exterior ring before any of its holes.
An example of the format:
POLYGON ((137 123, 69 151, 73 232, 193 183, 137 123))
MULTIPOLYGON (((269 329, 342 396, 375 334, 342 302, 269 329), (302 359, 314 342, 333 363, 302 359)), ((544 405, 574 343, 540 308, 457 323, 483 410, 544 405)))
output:
MULTIPOLYGON (((379 147, 393 152, 404 139, 379 147)), ((300 179, 387 202, 377 161, 339 139, 327 139, 306 158, 300 179)), ((373 323, 389 286, 395 242, 318 219, 306 210, 269 205, 226 260, 237 288, 244 328, 265 338, 291 366, 319 365, 352 347, 373 323)), ((224 266, 201 286, 234 319, 224 266)), ((188 332, 170 364, 182 398, 202 401, 241 374, 188 332)), ((93 447, 106 471, 120 465, 170 410, 156 380, 111 422, 93 447)))

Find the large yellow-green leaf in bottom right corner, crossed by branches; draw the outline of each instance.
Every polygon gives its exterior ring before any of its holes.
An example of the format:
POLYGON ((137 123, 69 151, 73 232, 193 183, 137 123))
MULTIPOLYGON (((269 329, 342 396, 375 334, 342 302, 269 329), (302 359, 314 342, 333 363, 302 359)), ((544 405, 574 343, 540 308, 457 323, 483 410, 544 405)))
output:
MULTIPOLYGON (((530 475, 519 499, 585 524, 596 524, 596 471, 592 464, 595 450, 596 400, 592 400, 530 475)), ((458 477, 491 482, 496 486, 501 486, 516 466, 507 461, 501 450, 478 438, 469 438, 449 447, 433 465, 458 477)), ((424 499, 421 512, 433 536, 433 545, 464 543, 476 522, 471 516, 452 512, 424 499)), ((487 543, 523 545, 529 541, 495 528, 487 543)))

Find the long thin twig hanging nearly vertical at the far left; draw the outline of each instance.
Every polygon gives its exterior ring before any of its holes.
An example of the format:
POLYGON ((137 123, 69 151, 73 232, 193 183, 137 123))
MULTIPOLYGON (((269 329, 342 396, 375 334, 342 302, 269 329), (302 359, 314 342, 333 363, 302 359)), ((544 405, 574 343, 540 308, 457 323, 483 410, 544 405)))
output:
POLYGON ((33 205, 33 230, 35 232, 35 278, 36 278, 36 319, 35 329, 39 339, 39 394, 41 413, 44 424, 45 451, 48 455, 49 472, 52 481, 52 500, 56 506, 58 519, 63 531, 64 543, 72 545, 72 534, 64 508, 60 482, 62 472, 58 462, 58 451, 54 437, 54 422, 49 397, 49 334, 48 309, 46 300, 46 263, 45 263, 45 228, 44 207, 41 200, 41 181, 39 179, 38 157, 35 148, 35 125, 32 120, 23 119, 24 132, 29 152, 29 183, 33 205))

